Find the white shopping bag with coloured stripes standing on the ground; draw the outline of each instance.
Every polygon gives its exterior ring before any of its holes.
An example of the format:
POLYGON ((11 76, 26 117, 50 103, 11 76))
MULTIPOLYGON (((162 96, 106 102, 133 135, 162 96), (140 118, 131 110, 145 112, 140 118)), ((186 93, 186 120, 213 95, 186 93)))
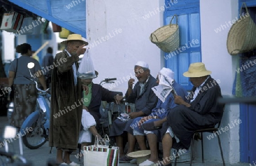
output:
POLYGON ((92 146, 84 146, 84 165, 90 166, 118 166, 119 165, 119 147, 109 147, 108 142, 100 145, 98 138, 92 146))

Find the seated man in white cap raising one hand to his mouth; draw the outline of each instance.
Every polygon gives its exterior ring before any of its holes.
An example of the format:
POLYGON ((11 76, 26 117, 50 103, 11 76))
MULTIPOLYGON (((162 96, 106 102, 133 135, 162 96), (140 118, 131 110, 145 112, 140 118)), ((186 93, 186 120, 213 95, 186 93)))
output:
MULTIPOLYGON (((134 66, 134 72, 138 82, 133 88, 135 80, 130 79, 125 95, 128 103, 135 103, 136 112, 130 113, 131 119, 149 115, 151 109, 155 108, 158 101, 158 97, 156 97, 155 93, 151 90, 152 87, 157 86, 156 79, 150 74, 147 63, 142 61, 137 62, 134 66)), ((131 130, 131 122, 133 122, 133 120, 123 122, 117 119, 113 122, 112 129, 110 130, 110 137, 115 137, 115 141, 119 147, 121 156, 119 159, 120 163, 129 163, 131 160, 125 156, 125 152, 123 151, 124 131, 128 131, 129 148, 127 154, 134 151, 136 139, 129 132, 129 130, 131 130)))

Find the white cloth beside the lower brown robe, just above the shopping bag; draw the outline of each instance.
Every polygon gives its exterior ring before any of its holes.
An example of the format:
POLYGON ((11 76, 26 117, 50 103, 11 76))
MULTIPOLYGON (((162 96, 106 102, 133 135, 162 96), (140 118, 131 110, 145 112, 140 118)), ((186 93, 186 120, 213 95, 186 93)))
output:
POLYGON ((92 142, 92 133, 88 130, 91 126, 96 126, 94 117, 85 109, 82 110, 83 130, 79 134, 79 143, 92 142))

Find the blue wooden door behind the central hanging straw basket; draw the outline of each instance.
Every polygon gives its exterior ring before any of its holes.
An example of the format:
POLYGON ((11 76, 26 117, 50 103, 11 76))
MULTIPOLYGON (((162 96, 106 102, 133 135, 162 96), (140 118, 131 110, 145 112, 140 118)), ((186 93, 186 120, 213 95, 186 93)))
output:
MULTIPOLYGON (((177 15, 180 46, 171 53, 165 53, 166 67, 175 72, 175 80, 186 90, 191 90, 192 84, 183 73, 188 70, 191 63, 201 62, 201 39, 200 39, 200 8, 199 0, 166 0, 164 11, 164 24, 170 24, 173 15, 177 15)), ((176 24, 176 20, 172 24, 176 24)))

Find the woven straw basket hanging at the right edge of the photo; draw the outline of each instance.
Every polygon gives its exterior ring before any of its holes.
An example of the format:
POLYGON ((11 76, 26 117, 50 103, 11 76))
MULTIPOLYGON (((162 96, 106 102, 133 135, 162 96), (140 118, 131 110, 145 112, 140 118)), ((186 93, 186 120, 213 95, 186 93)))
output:
MULTIPOLYGON (((246 12, 249 15, 246 4, 246 12)), ((242 15, 242 6, 240 9, 240 16, 242 15)), ((228 33, 226 41, 228 52, 230 55, 249 52, 256 48, 256 25, 250 16, 243 16, 236 23, 232 25, 228 33)))

